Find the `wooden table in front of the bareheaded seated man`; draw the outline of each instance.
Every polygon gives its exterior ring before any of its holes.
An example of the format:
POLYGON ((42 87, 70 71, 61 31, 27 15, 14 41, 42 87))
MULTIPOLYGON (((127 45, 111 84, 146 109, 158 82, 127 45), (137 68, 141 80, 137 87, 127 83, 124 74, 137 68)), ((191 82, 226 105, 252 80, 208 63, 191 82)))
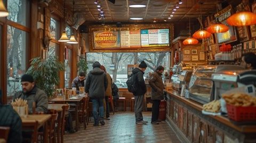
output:
POLYGON ((79 103, 81 102, 83 98, 78 98, 78 99, 62 99, 62 98, 53 98, 51 100, 49 100, 49 102, 54 102, 54 103, 73 103, 76 104, 76 108, 75 108, 75 120, 76 120, 76 131, 78 131, 78 106, 79 103))

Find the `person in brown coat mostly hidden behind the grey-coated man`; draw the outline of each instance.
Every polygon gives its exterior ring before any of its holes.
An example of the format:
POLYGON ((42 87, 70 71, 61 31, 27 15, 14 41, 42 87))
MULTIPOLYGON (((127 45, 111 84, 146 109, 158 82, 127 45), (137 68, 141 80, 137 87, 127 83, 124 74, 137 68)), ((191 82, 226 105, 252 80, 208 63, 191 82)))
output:
POLYGON ((112 84, 112 79, 111 79, 111 77, 110 77, 110 75, 109 75, 109 73, 107 73, 107 71, 106 71, 106 68, 105 68, 105 66, 103 66, 103 65, 101 65, 100 66, 100 69, 101 70, 103 70, 105 73, 106 73, 106 75, 107 75, 107 79, 108 79, 108 86, 107 86, 107 89, 106 89, 106 92, 105 92, 105 105, 106 105, 106 120, 110 120, 109 119, 109 101, 108 101, 108 98, 109 98, 109 96, 112 96, 112 89, 111 89, 111 84, 112 84))

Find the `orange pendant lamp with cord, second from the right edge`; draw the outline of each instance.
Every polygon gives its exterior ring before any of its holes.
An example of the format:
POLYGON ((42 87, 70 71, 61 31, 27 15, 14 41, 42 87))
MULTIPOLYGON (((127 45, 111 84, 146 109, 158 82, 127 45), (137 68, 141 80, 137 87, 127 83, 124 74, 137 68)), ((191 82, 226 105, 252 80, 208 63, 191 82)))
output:
MULTIPOLYGON (((216 4, 216 8, 217 8, 217 13, 218 13, 218 2, 216 4)), ((209 26, 206 31, 210 32, 210 33, 223 33, 223 32, 227 32, 229 30, 229 27, 226 26, 225 24, 219 23, 218 20, 216 19, 217 23, 215 24, 211 24, 211 26, 209 26)))

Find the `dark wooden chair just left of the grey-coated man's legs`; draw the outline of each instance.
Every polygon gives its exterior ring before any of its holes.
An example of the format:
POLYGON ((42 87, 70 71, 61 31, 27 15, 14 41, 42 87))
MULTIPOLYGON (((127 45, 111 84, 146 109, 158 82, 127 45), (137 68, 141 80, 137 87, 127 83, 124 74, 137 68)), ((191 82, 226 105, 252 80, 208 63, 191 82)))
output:
POLYGON ((87 104, 88 104, 88 101, 89 100, 89 97, 85 97, 82 99, 82 106, 80 106, 81 108, 79 109, 78 111, 78 117, 79 119, 82 119, 82 120, 79 120, 79 121, 83 121, 84 123, 84 129, 86 129, 86 121, 87 121, 87 111, 86 111, 86 107, 87 107, 87 104))

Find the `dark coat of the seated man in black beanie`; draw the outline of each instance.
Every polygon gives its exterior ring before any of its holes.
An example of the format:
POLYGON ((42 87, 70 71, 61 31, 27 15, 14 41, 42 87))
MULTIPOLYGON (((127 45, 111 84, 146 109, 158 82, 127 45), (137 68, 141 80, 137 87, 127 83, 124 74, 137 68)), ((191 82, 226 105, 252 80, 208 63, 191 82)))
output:
POLYGON ((28 101, 28 112, 33 114, 33 102, 36 103, 36 112, 48 112, 48 97, 45 92, 36 86, 28 93, 24 94, 22 91, 18 91, 12 97, 13 100, 16 98, 22 98, 28 101))

